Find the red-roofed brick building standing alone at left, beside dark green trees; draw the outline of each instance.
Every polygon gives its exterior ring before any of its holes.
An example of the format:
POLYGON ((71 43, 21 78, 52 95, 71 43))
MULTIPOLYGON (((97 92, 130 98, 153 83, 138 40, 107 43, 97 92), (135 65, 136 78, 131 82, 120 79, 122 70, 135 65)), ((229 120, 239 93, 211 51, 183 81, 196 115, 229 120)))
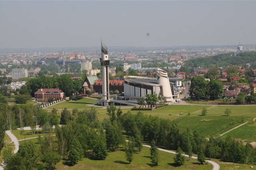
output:
POLYGON ((64 97, 64 92, 60 89, 38 89, 34 94, 35 99, 56 99, 64 97))

